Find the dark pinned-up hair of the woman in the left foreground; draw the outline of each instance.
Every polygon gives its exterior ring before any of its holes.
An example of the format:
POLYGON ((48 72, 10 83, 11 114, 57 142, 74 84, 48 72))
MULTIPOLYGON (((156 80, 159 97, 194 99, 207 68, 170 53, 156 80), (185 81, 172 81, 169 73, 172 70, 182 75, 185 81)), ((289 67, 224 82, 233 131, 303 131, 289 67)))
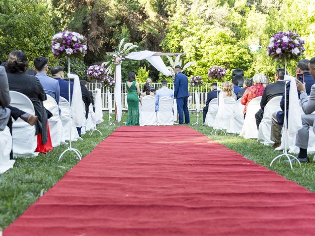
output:
POLYGON ((25 52, 13 51, 10 53, 6 68, 10 73, 25 72, 29 66, 28 57, 25 52))

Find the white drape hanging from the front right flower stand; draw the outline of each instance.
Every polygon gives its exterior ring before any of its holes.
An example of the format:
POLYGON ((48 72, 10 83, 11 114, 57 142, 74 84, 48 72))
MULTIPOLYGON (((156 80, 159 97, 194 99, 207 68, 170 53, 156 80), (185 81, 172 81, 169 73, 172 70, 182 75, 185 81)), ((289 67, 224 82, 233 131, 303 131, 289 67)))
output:
POLYGON ((301 111, 298 109, 300 107, 299 96, 297 94, 295 78, 292 76, 285 75, 284 80, 291 80, 290 82, 290 92, 289 92, 289 112, 288 112, 288 134, 294 134, 302 128, 301 111))

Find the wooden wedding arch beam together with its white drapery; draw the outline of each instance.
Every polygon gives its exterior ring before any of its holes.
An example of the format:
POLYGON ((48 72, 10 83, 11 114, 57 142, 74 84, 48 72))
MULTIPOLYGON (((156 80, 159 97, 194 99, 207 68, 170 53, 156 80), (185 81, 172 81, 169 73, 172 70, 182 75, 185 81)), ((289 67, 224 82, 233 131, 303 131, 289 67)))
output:
MULTIPOLYGON (((109 56, 114 56, 115 52, 106 53, 109 56)), ((162 52, 152 52, 152 51, 140 51, 131 52, 126 55, 126 59, 131 60, 148 60, 159 72, 165 76, 172 76, 171 71, 167 68, 161 56, 184 56, 185 53, 162 53, 162 52)), ((114 90, 114 100, 115 100, 115 119, 116 121, 121 121, 122 118, 122 67, 121 63, 115 65, 115 90, 114 90)))

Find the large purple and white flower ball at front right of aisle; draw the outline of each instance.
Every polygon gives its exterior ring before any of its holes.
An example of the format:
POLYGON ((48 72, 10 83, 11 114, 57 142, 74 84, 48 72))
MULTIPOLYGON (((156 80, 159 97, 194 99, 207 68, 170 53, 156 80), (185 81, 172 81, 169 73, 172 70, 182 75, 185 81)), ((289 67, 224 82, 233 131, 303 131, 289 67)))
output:
POLYGON ((304 40, 299 34, 291 30, 280 31, 270 38, 267 55, 277 61, 280 59, 297 59, 305 51, 304 44, 304 40))

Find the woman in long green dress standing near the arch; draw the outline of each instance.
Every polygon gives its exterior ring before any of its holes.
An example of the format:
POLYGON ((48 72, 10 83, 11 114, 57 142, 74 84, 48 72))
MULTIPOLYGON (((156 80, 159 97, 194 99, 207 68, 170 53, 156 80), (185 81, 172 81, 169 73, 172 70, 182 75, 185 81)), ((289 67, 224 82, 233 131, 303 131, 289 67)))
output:
POLYGON ((139 125, 139 83, 136 81, 136 75, 129 72, 126 82, 128 117, 126 125, 139 125))

